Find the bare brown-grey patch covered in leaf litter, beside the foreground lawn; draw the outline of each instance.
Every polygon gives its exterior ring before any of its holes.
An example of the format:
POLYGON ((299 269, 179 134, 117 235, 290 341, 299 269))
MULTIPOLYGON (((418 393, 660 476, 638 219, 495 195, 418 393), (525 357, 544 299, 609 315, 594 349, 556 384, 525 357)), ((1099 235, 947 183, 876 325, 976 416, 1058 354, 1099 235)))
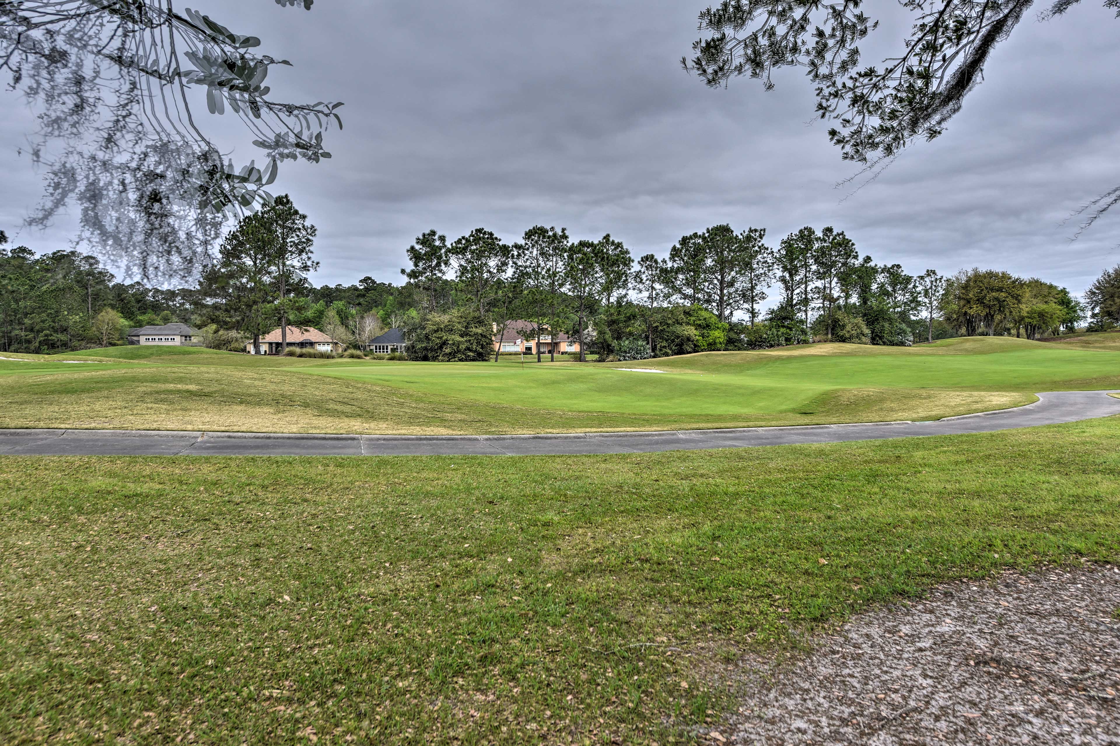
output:
POLYGON ((1116 744, 1120 569, 1006 572, 862 615, 743 670, 702 737, 740 744, 1116 744))

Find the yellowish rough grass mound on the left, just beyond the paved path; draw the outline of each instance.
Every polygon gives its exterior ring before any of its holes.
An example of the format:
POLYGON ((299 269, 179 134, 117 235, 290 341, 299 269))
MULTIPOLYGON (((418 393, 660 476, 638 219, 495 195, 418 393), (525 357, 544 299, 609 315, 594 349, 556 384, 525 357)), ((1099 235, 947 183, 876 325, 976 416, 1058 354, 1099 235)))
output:
POLYGON ((6 393, 0 428, 438 435, 532 431, 532 423, 542 421, 559 430, 633 426, 625 416, 543 412, 282 369, 162 365, 81 375, 16 373, 22 375, 0 377, 6 393))

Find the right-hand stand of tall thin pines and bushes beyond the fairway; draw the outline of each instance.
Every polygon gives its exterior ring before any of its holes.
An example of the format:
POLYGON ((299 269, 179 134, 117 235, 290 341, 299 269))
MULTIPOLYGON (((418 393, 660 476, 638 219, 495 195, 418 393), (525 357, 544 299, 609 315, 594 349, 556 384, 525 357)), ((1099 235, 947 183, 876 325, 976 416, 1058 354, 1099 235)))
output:
MULTIPOLYGON (((1085 317, 1082 304, 1053 283, 979 269, 912 276, 861 257, 832 227, 805 226, 772 246, 765 229, 721 224, 681 236, 664 259, 636 261, 609 234, 573 240, 564 229, 536 225, 508 243, 485 229, 448 242, 432 230, 408 258, 401 272, 421 301, 410 333, 424 341, 423 358, 480 360, 491 349, 485 327, 501 334, 512 319, 530 323, 528 336, 572 335, 581 360, 588 352, 642 360, 813 339, 1038 338, 1072 332, 1085 317), (767 300, 776 302, 764 311, 767 300), (439 345, 427 342, 435 336, 439 345), (441 345, 457 352, 440 355, 441 345)), ((541 345, 535 354, 542 357, 541 345)))

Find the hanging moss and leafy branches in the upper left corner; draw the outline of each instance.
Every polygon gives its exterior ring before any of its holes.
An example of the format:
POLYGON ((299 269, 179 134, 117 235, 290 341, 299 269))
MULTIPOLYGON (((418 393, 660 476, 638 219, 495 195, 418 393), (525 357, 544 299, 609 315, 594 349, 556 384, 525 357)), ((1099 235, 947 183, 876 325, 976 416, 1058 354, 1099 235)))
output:
POLYGON ((125 277, 197 276, 226 222, 271 202, 279 164, 329 158, 324 132, 342 127, 340 103, 269 99, 269 71, 290 63, 260 44, 170 0, 0 0, 0 71, 37 113, 45 190, 28 225, 75 206, 75 242, 125 277), (241 119, 262 167, 222 156, 192 90, 209 114, 241 119))

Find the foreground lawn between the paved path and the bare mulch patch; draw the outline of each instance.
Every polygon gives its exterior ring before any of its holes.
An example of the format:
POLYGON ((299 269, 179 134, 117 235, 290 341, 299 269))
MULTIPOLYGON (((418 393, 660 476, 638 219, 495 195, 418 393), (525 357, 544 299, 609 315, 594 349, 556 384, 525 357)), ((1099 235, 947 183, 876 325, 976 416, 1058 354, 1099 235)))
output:
POLYGON ((0 457, 0 743, 689 743, 746 651, 1120 559, 1120 420, 580 457, 0 457))

